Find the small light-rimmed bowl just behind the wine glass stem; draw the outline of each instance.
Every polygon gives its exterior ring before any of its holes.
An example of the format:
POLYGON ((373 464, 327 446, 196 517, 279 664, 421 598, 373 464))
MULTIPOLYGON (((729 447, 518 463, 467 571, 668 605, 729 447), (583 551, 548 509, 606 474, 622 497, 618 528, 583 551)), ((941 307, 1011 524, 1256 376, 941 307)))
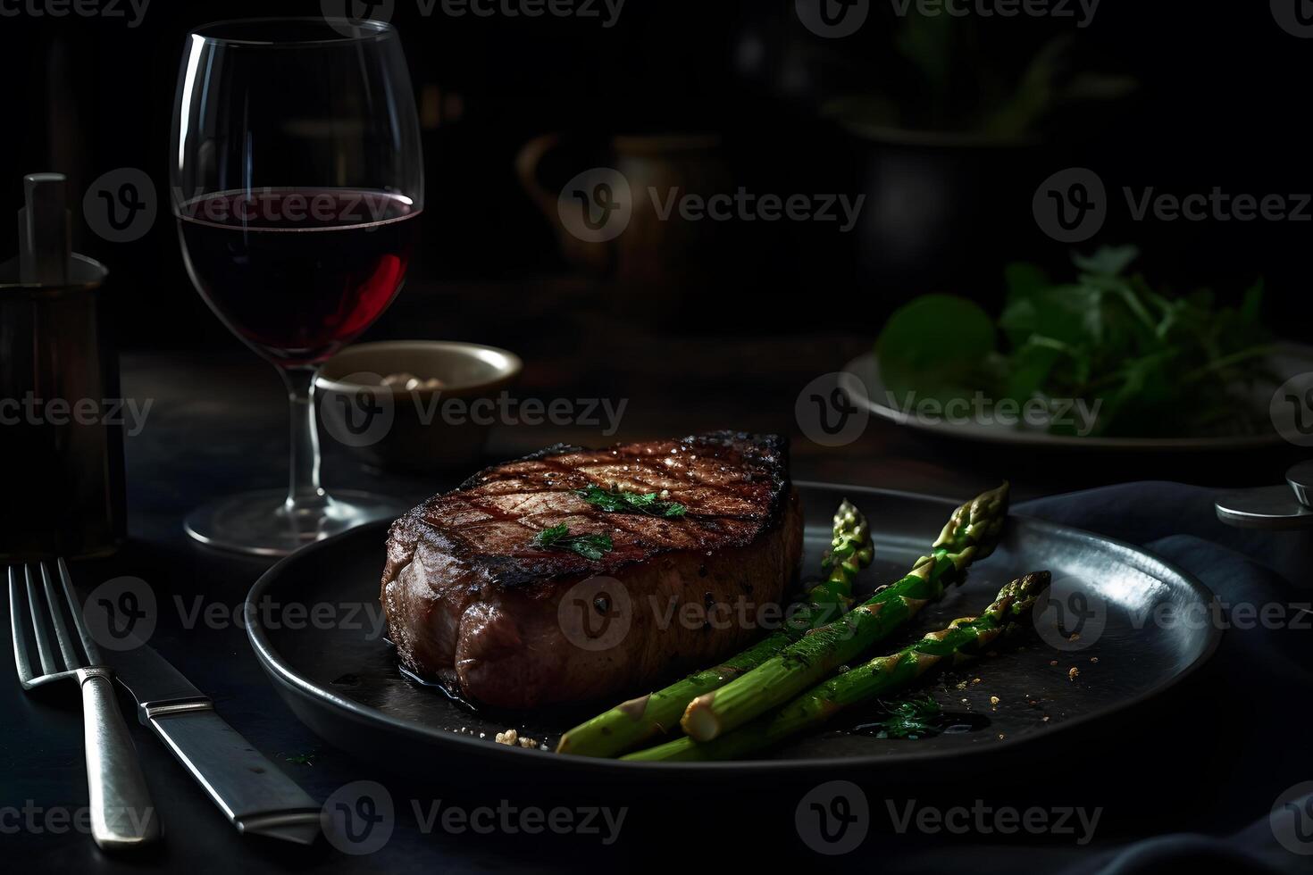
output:
POLYGON ((315 382, 319 415, 328 439, 336 438, 357 457, 385 468, 439 471, 477 462, 491 422, 453 417, 481 397, 496 399, 520 374, 515 353, 482 344, 437 340, 393 340, 357 344, 324 362, 315 382), (383 378, 412 374, 439 379, 440 388, 385 386, 383 378), (361 409, 370 411, 361 420, 361 409), (348 428, 348 416, 355 428, 348 428))

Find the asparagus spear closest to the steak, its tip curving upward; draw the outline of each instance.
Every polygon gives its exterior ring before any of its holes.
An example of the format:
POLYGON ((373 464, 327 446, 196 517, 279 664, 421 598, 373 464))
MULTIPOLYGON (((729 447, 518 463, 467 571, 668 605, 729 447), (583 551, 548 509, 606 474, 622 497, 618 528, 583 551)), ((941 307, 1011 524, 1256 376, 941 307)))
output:
POLYGON ((867 518, 844 500, 834 514, 834 537, 822 563, 826 579, 807 593, 807 605, 742 653, 649 695, 630 699, 561 736, 557 753, 614 757, 664 735, 679 723, 688 703, 760 665, 809 628, 823 626, 852 602, 852 581, 871 564, 873 547, 867 518))

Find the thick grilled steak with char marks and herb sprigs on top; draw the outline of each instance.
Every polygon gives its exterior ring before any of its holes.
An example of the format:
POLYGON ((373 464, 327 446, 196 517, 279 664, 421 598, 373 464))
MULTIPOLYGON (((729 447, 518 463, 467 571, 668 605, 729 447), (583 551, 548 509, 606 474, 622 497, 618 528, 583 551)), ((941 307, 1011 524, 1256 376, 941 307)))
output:
POLYGON ((641 690, 729 655, 760 634, 758 611, 780 602, 801 558, 780 437, 554 446, 393 523, 381 600, 406 668, 528 708, 641 690), (591 485, 668 491, 687 513, 608 513, 575 493, 591 485), (592 560, 533 546, 559 525, 613 548, 592 560))

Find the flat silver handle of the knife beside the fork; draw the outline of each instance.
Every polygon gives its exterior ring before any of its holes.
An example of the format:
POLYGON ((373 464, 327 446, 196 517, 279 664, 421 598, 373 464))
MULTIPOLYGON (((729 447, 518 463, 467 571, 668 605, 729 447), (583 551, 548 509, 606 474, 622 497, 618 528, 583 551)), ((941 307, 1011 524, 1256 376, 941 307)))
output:
POLYGON ((209 701, 142 711, 142 722, 238 830, 301 844, 319 832, 319 803, 215 714, 209 701))

